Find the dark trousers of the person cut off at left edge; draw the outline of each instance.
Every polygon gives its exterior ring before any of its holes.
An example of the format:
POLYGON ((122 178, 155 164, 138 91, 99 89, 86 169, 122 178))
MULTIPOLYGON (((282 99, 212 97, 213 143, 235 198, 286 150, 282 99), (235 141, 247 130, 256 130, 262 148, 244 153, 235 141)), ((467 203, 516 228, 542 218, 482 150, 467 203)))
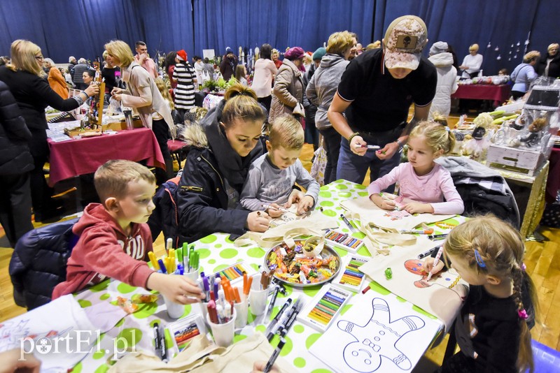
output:
MULTIPOLYGON (((11 247, 33 229, 29 173, 2 175, 0 183, 0 224, 11 247)), ((43 177, 44 179, 44 177, 43 177)))

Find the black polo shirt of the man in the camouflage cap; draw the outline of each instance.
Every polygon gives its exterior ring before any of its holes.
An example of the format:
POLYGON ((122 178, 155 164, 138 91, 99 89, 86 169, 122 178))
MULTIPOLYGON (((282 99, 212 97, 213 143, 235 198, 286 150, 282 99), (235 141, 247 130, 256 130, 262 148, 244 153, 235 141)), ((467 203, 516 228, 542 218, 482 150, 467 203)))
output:
POLYGON ((384 68, 383 50, 379 48, 367 50, 350 62, 337 92, 351 101, 346 119, 354 131, 382 132, 405 122, 412 103, 431 103, 436 85, 435 66, 424 57, 405 78, 393 78, 384 68))

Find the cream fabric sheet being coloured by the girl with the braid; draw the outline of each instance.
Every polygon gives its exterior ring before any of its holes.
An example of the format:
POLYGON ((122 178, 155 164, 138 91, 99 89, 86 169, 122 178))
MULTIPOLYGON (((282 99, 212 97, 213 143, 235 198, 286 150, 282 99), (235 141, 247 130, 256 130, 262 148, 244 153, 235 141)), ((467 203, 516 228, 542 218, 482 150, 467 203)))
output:
POLYGON ((468 294, 468 284, 451 268, 433 275, 426 283, 428 274, 422 270, 423 259, 416 258, 421 252, 441 244, 443 241, 433 242, 420 235, 413 246, 392 247, 391 254, 377 256, 374 261, 360 266, 360 271, 391 293, 437 316, 449 330, 468 294), (385 277, 387 268, 393 271, 392 279, 385 277))

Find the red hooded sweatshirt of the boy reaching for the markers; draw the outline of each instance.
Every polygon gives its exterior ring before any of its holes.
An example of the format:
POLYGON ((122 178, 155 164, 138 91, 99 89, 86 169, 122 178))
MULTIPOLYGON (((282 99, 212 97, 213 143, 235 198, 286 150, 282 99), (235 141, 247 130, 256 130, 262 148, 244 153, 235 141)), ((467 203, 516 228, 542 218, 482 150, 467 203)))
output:
POLYGON ((72 228, 80 239, 68 259, 66 281, 55 286, 52 299, 98 284, 107 277, 146 288, 154 272, 146 264, 148 251, 153 251, 150 228, 147 224, 131 225, 127 236, 103 205, 87 205, 72 228))

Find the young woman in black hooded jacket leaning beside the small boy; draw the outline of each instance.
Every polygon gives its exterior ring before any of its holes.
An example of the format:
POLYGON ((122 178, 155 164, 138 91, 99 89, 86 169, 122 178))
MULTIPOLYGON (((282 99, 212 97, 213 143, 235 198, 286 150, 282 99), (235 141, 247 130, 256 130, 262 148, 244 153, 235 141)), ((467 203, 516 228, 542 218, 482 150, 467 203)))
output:
POLYGON ((260 142, 266 115, 252 89, 236 83, 200 125, 183 135, 190 145, 179 190, 179 243, 193 242, 215 232, 264 232, 265 212, 239 208, 239 195, 248 168, 262 155, 260 142))

